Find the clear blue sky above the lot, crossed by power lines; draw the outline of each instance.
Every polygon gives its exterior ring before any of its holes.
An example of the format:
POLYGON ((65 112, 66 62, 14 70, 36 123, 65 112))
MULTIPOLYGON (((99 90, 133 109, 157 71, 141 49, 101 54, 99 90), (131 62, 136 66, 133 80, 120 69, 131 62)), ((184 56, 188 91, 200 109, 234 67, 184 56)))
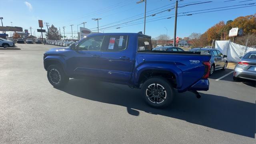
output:
MULTIPOLYGON (((68 38, 71 36, 70 25, 72 24, 74 25, 73 36, 77 36, 77 26, 82 22, 87 22, 85 27, 97 32, 97 21, 92 18, 102 18, 99 20, 100 32, 143 32, 145 2, 136 4, 138 1, 140 0, 0 0, 0 17, 3 17, 4 26, 11 26, 12 22, 12 26, 20 26, 23 30, 28 29, 29 33, 29 28, 32 27, 33 35, 34 31, 39 29, 38 20, 60 27, 62 35, 62 27, 65 26, 65 35, 68 38)), ((176 0, 147 0, 146 35, 155 38, 167 33, 170 38, 173 38, 175 2, 176 0), (171 10, 164 11, 168 9, 171 10), (152 14, 156 15, 151 16, 152 14)), ((226 22, 239 16, 255 14, 256 4, 243 5, 251 6, 246 8, 235 6, 251 3, 256 3, 256 0, 179 0, 176 36, 183 38, 192 32, 204 33, 222 20, 226 22), (227 8, 220 8, 226 6, 237 9, 222 10, 227 8), (208 12, 213 10, 222 11, 208 12), (206 13, 194 14, 198 12, 206 13), (192 15, 179 16, 184 14, 192 15)), ((83 24, 80 26, 83 27, 83 24)), ((45 24, 43 29, 47 31, 45 24)), ((40 36, 40 33, 36 32, 36 36, 40 36)))

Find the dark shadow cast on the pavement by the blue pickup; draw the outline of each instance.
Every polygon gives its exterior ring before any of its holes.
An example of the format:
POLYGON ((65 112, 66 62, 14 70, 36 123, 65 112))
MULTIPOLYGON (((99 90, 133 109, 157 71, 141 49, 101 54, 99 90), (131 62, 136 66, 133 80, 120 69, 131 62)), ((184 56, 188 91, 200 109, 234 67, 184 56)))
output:
POLYGON ((88 100, 125 106, 134 116, 144 111, 254 138, 255 104, 250 102, 202 93, 202 98, 197 99, 191 92, 176 92, 171 106, 155 109, 145 104, 140 90, 119 84, 72 79, 66 88, 59 90, 88 100))

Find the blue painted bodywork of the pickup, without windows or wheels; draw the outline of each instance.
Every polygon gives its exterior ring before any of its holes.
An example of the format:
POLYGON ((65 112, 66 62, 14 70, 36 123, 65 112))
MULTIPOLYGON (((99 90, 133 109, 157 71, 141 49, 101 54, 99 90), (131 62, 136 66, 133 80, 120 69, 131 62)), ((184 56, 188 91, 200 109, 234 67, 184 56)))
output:
POLYGON ((140 33, 92 34, 86 38, 110 35, 128 36, 126 49, 110 52, 54 48, 44 54, 44 68, 47 70, 46 63, 57 61, 69 77, 97 78, 134 87, 140 86, 140 76, 145 70, 161 70, 175 76, 176 88, 179 92, 209 89, 208 79, 202 77, 205 74, 203 62, 209 62, 210 55, 189 52, 137 52, 138 37, 150 38, 140 33))

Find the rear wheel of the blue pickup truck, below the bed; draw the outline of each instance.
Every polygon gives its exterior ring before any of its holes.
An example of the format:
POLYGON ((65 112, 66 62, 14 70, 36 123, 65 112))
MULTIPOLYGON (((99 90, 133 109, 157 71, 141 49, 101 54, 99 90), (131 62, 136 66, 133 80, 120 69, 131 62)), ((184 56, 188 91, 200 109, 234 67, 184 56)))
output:
POLYGON ((172 102, 174 90, 165 78, 156 76, 144 82, 142 95, 148 105, 154 108, 163 108, 172 102))

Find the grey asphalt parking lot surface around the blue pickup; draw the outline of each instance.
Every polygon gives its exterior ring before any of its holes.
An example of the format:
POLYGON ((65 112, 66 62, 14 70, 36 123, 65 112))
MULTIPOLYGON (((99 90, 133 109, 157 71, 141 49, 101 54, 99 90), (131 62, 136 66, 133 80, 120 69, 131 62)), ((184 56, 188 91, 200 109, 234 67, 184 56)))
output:
POLYGON ((177 93, 171 106, 147 106, 140 90, 71 79, 48 82, 43 53, 54 47, 17 44, 0 50, 0 143, 255 144, 254 81, 215 71, 210 90, 177 93))

